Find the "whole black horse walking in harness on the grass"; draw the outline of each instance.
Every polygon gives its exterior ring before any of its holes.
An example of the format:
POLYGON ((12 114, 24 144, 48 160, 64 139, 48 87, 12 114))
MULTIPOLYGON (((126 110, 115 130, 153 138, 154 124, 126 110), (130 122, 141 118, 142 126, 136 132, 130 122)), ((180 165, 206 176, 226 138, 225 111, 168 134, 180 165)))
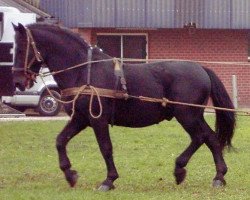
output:
MULTIPOLYGON (((91 48, 79 35, 66 28, 33 24, 23 27, 14 26, 16 32, 16 57, 13 67, 15 85, 23 90, 28 82, 33 82, 32 74, 38 72, 40 61, 46 64, 51 72, 67 69, 70 66, 84 63, 90 58, 91 71, 86 66, 77 67, 54 75, 61 90, 90 85, 95 88, 114 90, 117 76, 114 74, 114 63, 111 57, 99 48, 91 48), (90 56, 90 49, 92 56, 90 56), (27 67, 27 63, 36 57, 36 61, 27 67), (40 58, 40 59, 39 59, 40 58), (98 60, 105 62, 95 62, 98 60), (91 74, 91 76, 90 76, 91 74)), ((34 60, 34 59, 33 59, 34 60)), ((167 98, 172 101, 205 105, 211 97, 215 106, 233 108, 228 93, 222 82, 213 71, 192 62, 156 62, 148 64, 124 64, 124 77, 127 92, 131 96, 167 98)), ((120 84, 120 83, 119 83, 120 84)), ((118 85, 118 89, 121 85, 118 85)), ((66 96, 70 100, 74 96, 66 96)), ((77 182, 77 172, 71 169, 66 145, 80 131, 90 126, 96 135, 100 151, 107 167, 107 178, 100 190, 114 188, 113 182, 118 173, 112 156, 112 143, 109 135, 109 124, 126 127, 145 127, 157 124, 162 120, 176 120, 190 135, 191 143, 176 159, 174 176, 176 183, 184 181, 187 165, 191 156, 205 143, 212 152, 216 165, 214 186, 225 185, 224 175, 227 166, 223 159, 223 148, 231 146, 235 128, 233 112, 216 111, 216 128, 213 131, 204 119, 204 108, 182 105, 141 101, 137 98, 113 99, 101 97, 102 115, 93 117, 89 110, 90 95, 80 95, 75 102, 74 115, 56 139, 60 168, 66 180, 73 187, 77 182), (115 106, 114 106, 115 105, 115 106)), ((65 105, 66 112, 72 114, 72 104, 65 105)), ((94 98, 91 106, 93 114, 100 112, 100 104, 94 98)))

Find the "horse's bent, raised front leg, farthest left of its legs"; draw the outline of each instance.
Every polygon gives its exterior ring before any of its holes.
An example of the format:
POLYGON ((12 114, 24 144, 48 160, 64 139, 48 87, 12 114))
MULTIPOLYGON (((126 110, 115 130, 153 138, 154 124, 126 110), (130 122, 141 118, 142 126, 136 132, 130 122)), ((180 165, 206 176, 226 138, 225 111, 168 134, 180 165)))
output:
POLYGON ((66 145, 75 135, 77 135, 81 130, 86 127, 87 121, 84 121, 82 116, 77 116, 75 114, 56 139, 59 165, 71 187, 74 187, 74 185, 76 184, 78 176, 75 170, 70 169, 71 163, 67 156, 66 145))

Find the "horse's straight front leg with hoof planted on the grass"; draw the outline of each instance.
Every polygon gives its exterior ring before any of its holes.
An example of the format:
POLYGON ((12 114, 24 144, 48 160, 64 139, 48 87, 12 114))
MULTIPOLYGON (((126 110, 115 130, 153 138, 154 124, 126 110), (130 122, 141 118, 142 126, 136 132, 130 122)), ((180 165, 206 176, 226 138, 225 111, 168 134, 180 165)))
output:
POLYGON ((108 123, 107 120, 103 119, 92 120, 91 126, 94 129, 100 151, 107 166, 107 178, 102 182, 98 190, 108 191, 115 188, 113 182, 119 177, 113 160, 113 147, 108 123))

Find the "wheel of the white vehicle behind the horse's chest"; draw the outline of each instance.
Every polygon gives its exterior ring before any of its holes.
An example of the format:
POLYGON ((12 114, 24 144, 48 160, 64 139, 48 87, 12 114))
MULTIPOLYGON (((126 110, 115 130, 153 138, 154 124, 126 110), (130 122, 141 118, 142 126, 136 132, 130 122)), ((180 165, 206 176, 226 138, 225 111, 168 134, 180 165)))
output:
POLYGON ((56 100, 61 98, 60 94, 55 90, 51 90, 51 93, 53 96, 45 92, 40 98, 37 110, 42 116, 55 116, 61 110, 61 103, 56 100))

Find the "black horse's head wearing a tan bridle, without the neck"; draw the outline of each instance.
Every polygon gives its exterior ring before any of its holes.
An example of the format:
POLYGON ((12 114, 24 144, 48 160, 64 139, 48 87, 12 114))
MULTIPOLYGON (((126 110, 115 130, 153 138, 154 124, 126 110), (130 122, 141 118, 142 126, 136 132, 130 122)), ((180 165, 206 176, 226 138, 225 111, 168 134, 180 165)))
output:
POLYGON ((15 30, 15 60, 13 71, 13 81, 20 90, 33 86, 36 75, 39 72, 43 61, 32 33, 22 24, 14 25, 15 30))

